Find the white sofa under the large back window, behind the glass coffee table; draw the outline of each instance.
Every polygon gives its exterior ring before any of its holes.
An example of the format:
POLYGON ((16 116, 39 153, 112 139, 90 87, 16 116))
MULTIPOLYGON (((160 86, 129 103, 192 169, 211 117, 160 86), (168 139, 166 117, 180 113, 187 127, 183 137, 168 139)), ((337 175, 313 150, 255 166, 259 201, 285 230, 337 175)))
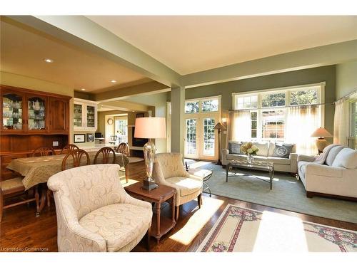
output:
MULTIPOLYGON (((228 141, 235 142, 235 141, 228 141)), ((246 143, 246 142, 241 142, 246 143)), ((254 158, 262 161, 269 161, 274 163, 274 170, 277 172, 291 172, 292 174, 296 174, 297 172, 297 159, 298 155, 296 154, 296 145, 293 145, 291 153, 288 158, 282 157, 273 157, 273 152, 275 148, 275 143, 273 142, 253 142, 253 145, 258 147, 259 151, 254 158)), ((228 162, 234 159, 246 159, 246 155, 243 154, 230 154, 229 150, 222 150, 222 165, 223 167, 228 164, 228 162)))

